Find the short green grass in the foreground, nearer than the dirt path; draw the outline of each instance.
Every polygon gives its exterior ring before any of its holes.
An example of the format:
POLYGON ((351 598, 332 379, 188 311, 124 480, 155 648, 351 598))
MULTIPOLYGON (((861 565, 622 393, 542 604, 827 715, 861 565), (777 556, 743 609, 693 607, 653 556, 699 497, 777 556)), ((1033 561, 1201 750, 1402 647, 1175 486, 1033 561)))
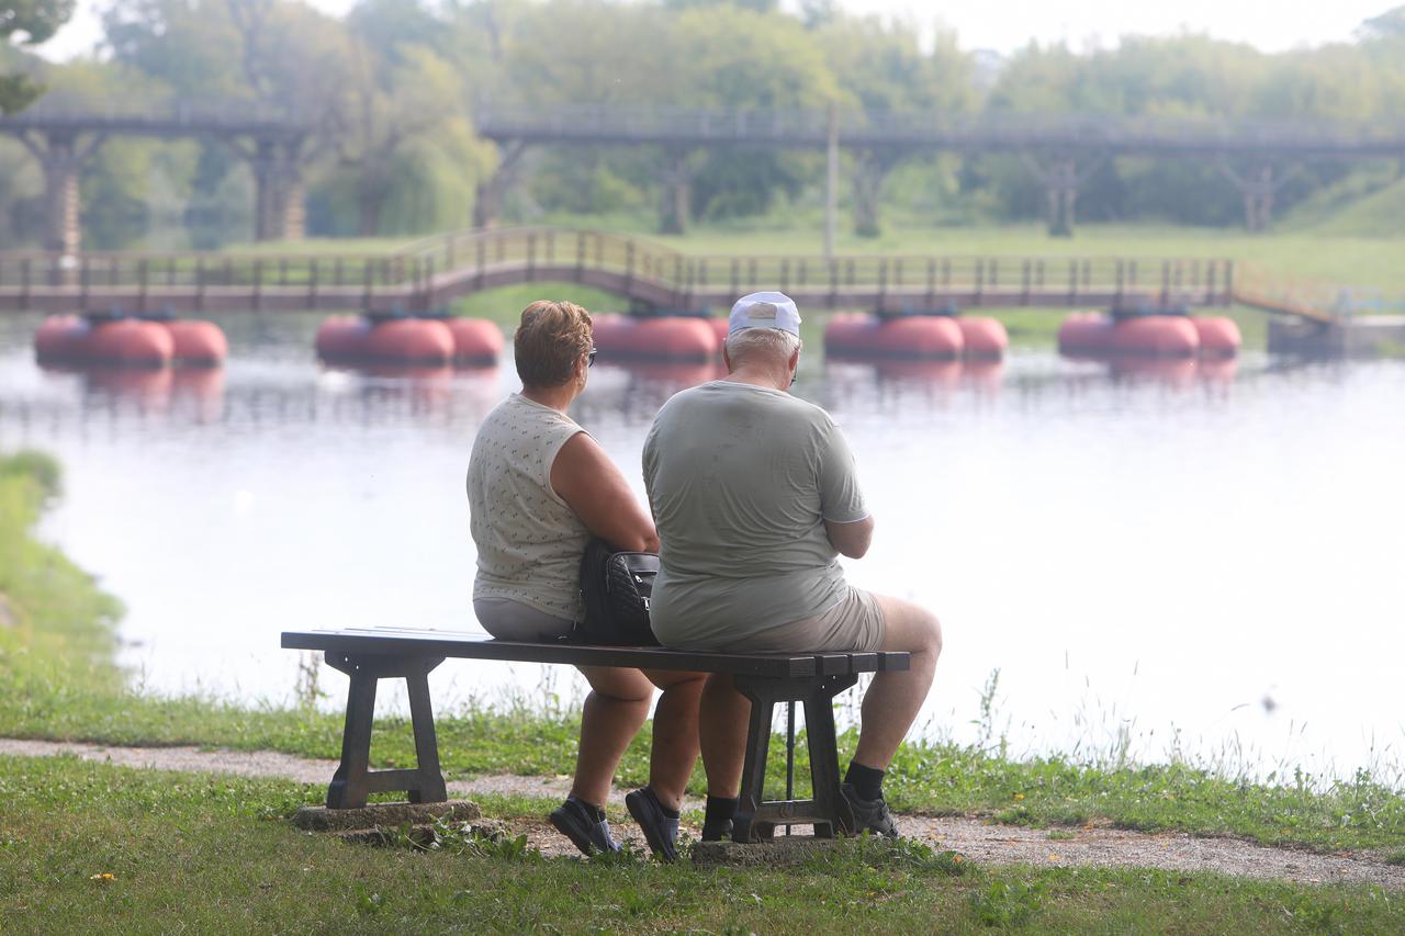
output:
MULTIPOLYGON (((791 869, 544 859, 295 831, 316 790, 72 758, 0 758, 0 912, 48 932, 1391 932, 1378 887, 1149 870, 975 867, 850 843, 791 869), (110 877, 104 877, 110 876, 110 877)), ((493 802, 511 822, 532 802, 493 802)))

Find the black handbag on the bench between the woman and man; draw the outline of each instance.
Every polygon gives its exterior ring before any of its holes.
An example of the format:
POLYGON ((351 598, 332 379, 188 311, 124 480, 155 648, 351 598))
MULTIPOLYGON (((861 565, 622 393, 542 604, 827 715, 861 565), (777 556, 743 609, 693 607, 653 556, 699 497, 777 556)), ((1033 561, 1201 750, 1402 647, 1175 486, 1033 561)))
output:
POLYGON ((653 552, 617 550, 592 537, 580 557, 580 599, 586 620, 576 624, 573 644, 658 646, 649 630, 649 597, 659 573, 653 552))

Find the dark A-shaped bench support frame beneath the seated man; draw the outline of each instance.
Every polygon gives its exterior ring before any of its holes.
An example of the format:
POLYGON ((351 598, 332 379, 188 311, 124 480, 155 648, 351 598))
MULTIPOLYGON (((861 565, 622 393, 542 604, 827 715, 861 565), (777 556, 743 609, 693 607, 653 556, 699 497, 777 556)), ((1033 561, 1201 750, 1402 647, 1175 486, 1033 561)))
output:
POLYGON ((815 838, 854 833, 854 817, 839 788, 839 739, 835 734, 835 696, 858 682, 856 675, 774 679, 735 676, 736 690, 752 701, 742 762, 740 801, 732 819, 733 842, 770 842, 777 825, 813 825, 815 838), (805 738, 813 798, 766 801, 766 753, 777 703, 805 706, 805 738))

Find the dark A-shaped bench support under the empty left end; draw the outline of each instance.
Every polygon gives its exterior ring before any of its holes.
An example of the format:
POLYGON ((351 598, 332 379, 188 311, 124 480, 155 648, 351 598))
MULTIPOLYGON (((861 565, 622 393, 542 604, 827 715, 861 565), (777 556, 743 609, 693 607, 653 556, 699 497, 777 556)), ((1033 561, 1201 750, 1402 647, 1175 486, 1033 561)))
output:
POLYGON ((443 658, 350 656, 326 654, 327 665, 351 679, 347 689, 346 727, 341 731, 341 763, 327 786, 329 810, 364 807, 372 793, 403 790, 410 802, 444 802, 448 791, 438 762, 434 711, 430 707, 429 673, 443 658), (414 729, 413 770, 371 770, 371 725, 375 718, 377 683, 403 677, 410 697, 414 729))

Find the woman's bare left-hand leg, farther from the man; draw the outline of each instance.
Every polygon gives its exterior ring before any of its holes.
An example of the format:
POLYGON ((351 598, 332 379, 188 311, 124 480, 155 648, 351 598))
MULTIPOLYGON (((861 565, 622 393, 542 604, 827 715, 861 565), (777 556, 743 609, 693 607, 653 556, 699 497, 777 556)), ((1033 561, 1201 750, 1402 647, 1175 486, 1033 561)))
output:
POLYGON ((653 684, 636 669, 580 666, 590 683, 580 715, 580 748, 570 795, 604 805, 625 748, 649 715, 653 684))

